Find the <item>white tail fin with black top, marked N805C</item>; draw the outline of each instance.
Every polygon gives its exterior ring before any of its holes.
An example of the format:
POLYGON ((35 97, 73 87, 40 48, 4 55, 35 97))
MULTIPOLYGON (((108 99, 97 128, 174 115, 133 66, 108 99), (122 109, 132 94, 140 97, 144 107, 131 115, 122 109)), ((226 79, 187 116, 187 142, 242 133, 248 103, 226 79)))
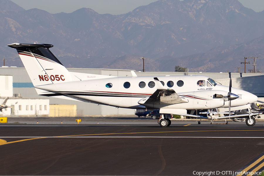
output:
POLYGON ((70 72, 49 50, 53 45, 13 43, 8 46, 17 50, 34 87, 72 81, 70 72))

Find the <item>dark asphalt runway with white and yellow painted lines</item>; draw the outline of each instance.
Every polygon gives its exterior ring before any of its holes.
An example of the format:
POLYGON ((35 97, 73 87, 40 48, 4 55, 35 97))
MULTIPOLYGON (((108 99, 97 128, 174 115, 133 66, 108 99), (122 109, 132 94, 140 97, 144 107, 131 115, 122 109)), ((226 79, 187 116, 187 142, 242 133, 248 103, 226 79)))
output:
POLYGON ((263 122, 162 128, 152 119, 100 120, 0 124, 0 175, 237 175, 264 167, 263 122))

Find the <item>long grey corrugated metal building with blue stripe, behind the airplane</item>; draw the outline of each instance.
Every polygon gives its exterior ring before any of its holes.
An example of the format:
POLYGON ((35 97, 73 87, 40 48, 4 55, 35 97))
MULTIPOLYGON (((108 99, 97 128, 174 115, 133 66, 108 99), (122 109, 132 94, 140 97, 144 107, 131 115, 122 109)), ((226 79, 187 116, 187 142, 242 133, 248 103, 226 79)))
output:
MULTIPOLYGON (((118 69, 89 69, 89 68, 67 68, 70 72, 80 72, 80 73, 90 73, 90 74, 98 74, 98 75, 111 75, 118 77, 131 77, 131 70, 118 70, 118 69)), ((194 72, 136 72, 138 76, 165 76, 165 75, 205 75, 218 82, 222 81, 223 85, 229 86, 229 74, 228 73, 194 73, 194 72), (222 79, 222 80, 221 80, 222 79), (224 83, 228 82, 228 84, 224 83)), ((21 97, 28 98, 40 98, 33 84, 26 72, 24 67, 0 67, 0 75, 13 75, 13 94, 20 94, 21 97)), ((233 87, 236 86, 236 81, 239 82, 240 73, 232 73, 233 87)), ((243 73, 243 77, 245 76, 264 76, 264 74, 251 74, 251 73, 243 73)), ((252 78, 252 77, 251 77, 252 78)), ((248 82, 252 84, 251 88, 240 86, 241 89, 245 89, 248 92, 252 92, 254 86, 258 86, 255 92, 257 94, 264 94, 264 91, 261 92, 262 83, 258 80, 258 78, 246 78, 248 82), (251 81, 250 81, 251 80, 251 81), (254 82, 254 84, 253 84, 254 82)), ((242 78, 243 80, 244 78, 242 78)), ((222 82, 220 82, 222 84, 222 82)), ((237 83, 239 84, 239 83, 237 83)), ((241 84, 241 81, 240 81, 241 84)), ((236 87, 237 88, 237 87, 236 87)), ((254 93, 254 92, 252 92, 254 93)), ((44 97, 42 97, 44 98, 44 97)), ((46 98, 46 97, 45 97, 46 98)), ((85 103, 80 101, 66 100, 66 99, 58 99, 50 97, 50 104, 69 104, 77 106, 77 116, 108 116, 108 115, 116 115, 116 114, 134 114, 135 110, 133 109, 123 109, 123 108, 115 108, 112 106, 98 105, 92 103, 85 103)))

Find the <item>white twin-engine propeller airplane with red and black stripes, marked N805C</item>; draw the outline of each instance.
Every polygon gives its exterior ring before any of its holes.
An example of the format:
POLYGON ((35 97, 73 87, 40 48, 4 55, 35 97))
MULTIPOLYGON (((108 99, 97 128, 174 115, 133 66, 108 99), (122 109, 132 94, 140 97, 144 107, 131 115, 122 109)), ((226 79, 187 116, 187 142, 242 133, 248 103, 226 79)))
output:
MULTIPOLYGON (((38 95, 129 109, 160 109, 163 115, 158 123, 162 127, 171 124, 166 114, 200 119, 202 116, 194 115, 195 110, 229 107, 229 116, 221 119, 232 119, 237 117, 230 116, 232 107, 236 108, 232 110, 247 109, 258 100, 257 96, 240 89, 232 88, 231 93, 231 86, 218 85, 206 76, 137 77, 131 71, 132 77, 113 77, 69 72, 50 52, 53 45, 13 43, 8 46, 17 50, 38 95)), ((248 116, 252 125, 258 114, 262 113, 249 111, 244 116, 248 116)))

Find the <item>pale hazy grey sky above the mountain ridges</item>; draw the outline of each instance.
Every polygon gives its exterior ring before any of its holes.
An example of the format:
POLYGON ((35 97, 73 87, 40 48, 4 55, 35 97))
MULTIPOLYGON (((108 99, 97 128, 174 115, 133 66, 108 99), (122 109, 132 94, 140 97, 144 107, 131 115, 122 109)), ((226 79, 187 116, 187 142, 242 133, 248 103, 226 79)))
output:
MULTIPOLYGON (((157 0, 11 0, 24 9, 41 9, 49 13, 71 13, 77 9, 91 8, 97 13, 119 15, 148 5, 157 0)), ((181 0, 183 1, 183 0, 181 0)), ((264 0, 238 0, 243 6, 256 12, 264 10, 264 0)))

